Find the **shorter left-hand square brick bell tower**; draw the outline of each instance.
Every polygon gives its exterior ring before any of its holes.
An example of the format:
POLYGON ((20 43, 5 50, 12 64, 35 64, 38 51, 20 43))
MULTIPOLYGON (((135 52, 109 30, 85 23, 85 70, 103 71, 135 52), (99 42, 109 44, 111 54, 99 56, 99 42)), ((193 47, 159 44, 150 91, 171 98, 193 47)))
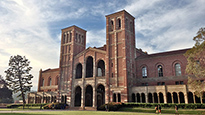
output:
POLYGON ((64 97, 63 101, 70 104, 74 56, 86 48, 86 31, 77 26, 64 28, 61 31, 59 91, 61 98, 64 97))

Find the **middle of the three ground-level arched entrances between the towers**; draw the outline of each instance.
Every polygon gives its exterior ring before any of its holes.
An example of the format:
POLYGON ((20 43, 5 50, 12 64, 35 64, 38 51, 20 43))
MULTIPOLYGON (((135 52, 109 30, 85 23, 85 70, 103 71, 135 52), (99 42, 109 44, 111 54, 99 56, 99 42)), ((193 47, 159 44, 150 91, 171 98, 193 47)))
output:
POLYGON ((88 85, 85 90, 85 106, 93 106, 93 88, 88 85))

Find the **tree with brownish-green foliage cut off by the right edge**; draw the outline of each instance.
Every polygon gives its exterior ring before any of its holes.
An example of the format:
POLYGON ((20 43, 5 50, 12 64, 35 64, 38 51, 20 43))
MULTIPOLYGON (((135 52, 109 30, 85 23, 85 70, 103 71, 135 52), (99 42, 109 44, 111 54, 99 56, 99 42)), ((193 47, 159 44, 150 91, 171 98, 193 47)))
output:
POLYGON ((193 40, 195 45, 185 53, 186 73, 188 84, 196 91, 196 96, 202 97, 205 89, 205 28, 200 28, 193 40))

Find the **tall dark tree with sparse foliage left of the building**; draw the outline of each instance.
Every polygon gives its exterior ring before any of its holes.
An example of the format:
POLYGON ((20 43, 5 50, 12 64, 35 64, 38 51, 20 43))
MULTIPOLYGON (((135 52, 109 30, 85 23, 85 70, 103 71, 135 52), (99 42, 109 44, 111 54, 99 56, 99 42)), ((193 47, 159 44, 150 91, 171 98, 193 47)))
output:
POLYGON ((33 76, 29 74, 32 67, 29 64, 30 62, 25 56, 11 56, 9 60, 10 67, 5 71, 9 87, 14 93, 20 92, 18 97, 22 97, 23 99, 23 108, 26 103, 25 93, 30 91, 32 87, 31 79, 33 76))

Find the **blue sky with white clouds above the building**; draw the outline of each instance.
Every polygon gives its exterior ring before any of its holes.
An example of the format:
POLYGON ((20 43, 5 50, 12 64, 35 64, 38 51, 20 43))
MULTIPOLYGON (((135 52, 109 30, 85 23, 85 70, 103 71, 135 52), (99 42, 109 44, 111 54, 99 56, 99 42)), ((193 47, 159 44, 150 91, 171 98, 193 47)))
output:
POLYGON ((205 0, 0 0, 0 75, 11 56, 32 67, 32 90, 40 69, 58 68, 61 29, 87 30, 86 47, 106 40, 105 15, 126 10, 135 17, 136 47, 148 54, 191 48, 205 27, 205 0))

